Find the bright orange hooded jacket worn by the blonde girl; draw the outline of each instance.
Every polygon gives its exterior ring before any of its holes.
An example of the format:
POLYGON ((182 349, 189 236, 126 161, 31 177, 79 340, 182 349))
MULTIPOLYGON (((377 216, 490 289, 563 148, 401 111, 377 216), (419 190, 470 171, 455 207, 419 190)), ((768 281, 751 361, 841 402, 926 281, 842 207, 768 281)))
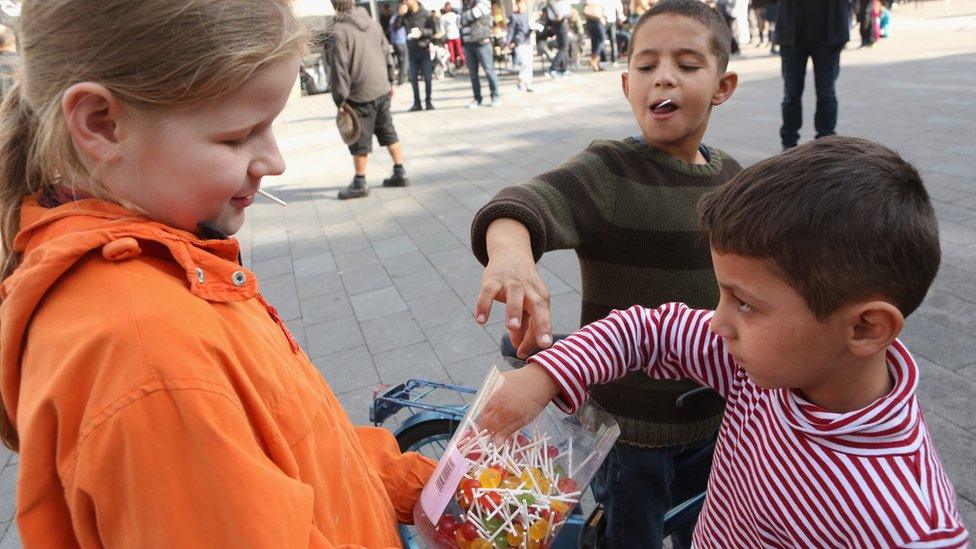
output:
POLYGON ((16 248, 0 391, 25 546, 400 545, 433 462, 353 427, 235 240, 27 199, 16 248))

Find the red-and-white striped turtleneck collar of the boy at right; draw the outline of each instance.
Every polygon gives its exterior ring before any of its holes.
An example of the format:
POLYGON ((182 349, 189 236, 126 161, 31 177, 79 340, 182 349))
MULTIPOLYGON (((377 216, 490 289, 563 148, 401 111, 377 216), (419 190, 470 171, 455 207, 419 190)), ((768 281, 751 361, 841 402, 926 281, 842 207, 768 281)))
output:
POLYGON ((894 387, 864 408, 831 412, 790 389, 776 390, 773 408, 798 436, 837 452, 862 456, 913 453, 925 434, 915 398, 918 366, 898 340, 888 347, 886 358, 894 387))

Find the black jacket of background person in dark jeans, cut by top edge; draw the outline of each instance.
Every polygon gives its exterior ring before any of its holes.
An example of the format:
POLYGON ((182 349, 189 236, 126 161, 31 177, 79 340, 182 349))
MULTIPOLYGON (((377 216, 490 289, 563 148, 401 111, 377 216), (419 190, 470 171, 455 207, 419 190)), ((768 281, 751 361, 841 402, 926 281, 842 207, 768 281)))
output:
POLYGON ((780 0, 776 42, 781 46, 839 46, 851 38, 849 0, 780 0), (804 32, 804 15, 826 17, 817 32, 804 32))

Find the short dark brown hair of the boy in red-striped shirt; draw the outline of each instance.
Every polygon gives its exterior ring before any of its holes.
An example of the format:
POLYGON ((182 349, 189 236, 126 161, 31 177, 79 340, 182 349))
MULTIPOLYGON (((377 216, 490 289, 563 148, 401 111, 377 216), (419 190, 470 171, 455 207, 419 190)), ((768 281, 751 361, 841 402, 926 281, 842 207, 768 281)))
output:
POLYGON ((770 259, 820 320, 877 298, 907 317, 939 270, 918 171, 866 139, 825 137, 763 160, 702 198, 698 213, 716 251, 770 259))

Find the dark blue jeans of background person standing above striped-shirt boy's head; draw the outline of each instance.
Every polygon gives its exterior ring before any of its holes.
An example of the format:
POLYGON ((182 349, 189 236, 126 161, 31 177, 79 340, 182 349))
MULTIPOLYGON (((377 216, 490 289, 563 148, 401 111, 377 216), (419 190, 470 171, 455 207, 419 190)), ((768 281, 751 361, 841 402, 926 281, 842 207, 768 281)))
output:
POLYGON ((837 133, 837 92, 843 45, 781 46, 783 72, 783 126, 779 130, 784 147, 795 147, 803 126, 803 81, 807 59, 813 59, 813 82, 817 90, 817 111, 813 125, 817 137, 837 133))

